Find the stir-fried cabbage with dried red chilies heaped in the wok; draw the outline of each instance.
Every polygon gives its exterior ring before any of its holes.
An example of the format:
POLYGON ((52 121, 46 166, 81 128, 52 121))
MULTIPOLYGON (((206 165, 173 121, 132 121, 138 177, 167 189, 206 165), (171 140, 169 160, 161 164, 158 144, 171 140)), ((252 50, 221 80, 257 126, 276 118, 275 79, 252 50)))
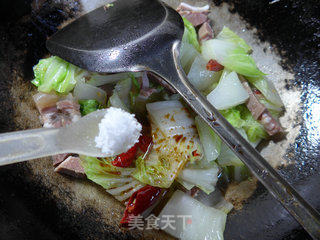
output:
MULTIPOLYGON (((180 7, 186 8, 185 14, 196 11, 198 17, 202 14, 204 21, 207 19, 208 6, 194 8, 182 4, 180 7)), ((279 116, 283 103, 273 84, 249 55, 251 47, 227 27, 212 39, 213 30, 208 21, 200 27, 200 36, 191 22, 186 18, 183 18, 183 22, 185 31, 179 57, 181 66, 195 88, 207 96, 209 102, 253 147, 268 136, 264 127, 269 134, 271 130, 272 134, 277 133, 278 128, 272 128, 272 124, 276 126, 274 123, 277 122, 270 113, 279 116), (259 105, 260 112, 256 111, 256 105, 259 105), (253 117, 251 112, 258 113, 253 117), (267 115, 261 115, 261 112, 267 115), (269 119, 273 122, 268 122, 269 119)), ((175 180, 188 190, 193 188, 191 195, 193 190, 199 189, 214 195, 219 193, 215 189, 218 176, 234 181, 242 181, 250 176, 248 168, 206 122, 184 106, 180 95, 166 92, 158 82, 152 81, 152 75, 147 72, 93 73, 53 56, 40 60, 34 66, 34 75, 32 83, 38 90, 50 93, 47 94, 50 101, 47 99, 44 103, 35 97, 39 100, 37 106, 41 114, 45 112, 43 109, 52 109, 50 118, 54 118, 54 114, 60 116, 65 113, 70 118, 70 112, 75 112, 78 117, 78 104, 65 107, 62 103, 67 101, 59 102, 65 99, 61 95, 68 94, 68 97, 73 95, 79 102, 82 116, 112 106, 132 112, 143 125, 139 142, 133 147, 133 144, 123 145, 127 146, 123 150, 126 152, 120 151, 120 154, 116 153, 118 155, 110 158, 80 156, 87 178, 104 187, 119 201, 127 203, 121 220, 123 226, 129 224, 132 217, 149 213, 151 206, 164 195, 164 188, 170 188, 175 180), (103 86, 106 91, 98 87, 102 85, 107 85, 103 86), (113 86, 106 104, 106 92, 113 86)), ((45 120, 47 116, 42 117, 45 120)), ((119 121, 111 121, 107 125, 111 123, 115 123, 115 130, 128 130, 127 127, 120 127, 119 121)), ((111 133, 119 135, 118 131, 106 134, 111 133)), ((118 145, 118 141, 114 143, 111 149, 118 145)), ((222 240, 226 214, 233 206, 222 195, 220 197, 221 201, 217 204, 212 202, 211 205, 215 205, 208 207, 176 191, 159 215, 160 218, 174 216, 176 229, 167 227, 164 230, 179 239, 222 240)), ((163 223, 160 222, 160 227, 163 223)))

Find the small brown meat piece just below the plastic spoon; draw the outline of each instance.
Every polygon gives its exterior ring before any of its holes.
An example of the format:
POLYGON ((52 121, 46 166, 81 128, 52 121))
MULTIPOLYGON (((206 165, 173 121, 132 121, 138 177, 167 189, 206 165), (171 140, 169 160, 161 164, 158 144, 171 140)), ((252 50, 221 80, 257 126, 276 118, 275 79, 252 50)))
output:
POLYGON ((85 178, 86 174, 81 165, 79 157, 69 156, 58 167, 54 169, 55 172, 67 174, 77 178, 85 178))

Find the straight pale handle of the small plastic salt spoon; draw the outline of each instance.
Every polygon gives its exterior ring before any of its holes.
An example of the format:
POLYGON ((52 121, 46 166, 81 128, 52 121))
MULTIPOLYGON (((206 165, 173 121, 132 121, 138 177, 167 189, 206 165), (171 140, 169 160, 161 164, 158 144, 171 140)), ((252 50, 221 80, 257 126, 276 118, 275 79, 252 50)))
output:
POLYGON ((59 129, 39 128, 0 134, 0 166, 61 152, 59 129))

